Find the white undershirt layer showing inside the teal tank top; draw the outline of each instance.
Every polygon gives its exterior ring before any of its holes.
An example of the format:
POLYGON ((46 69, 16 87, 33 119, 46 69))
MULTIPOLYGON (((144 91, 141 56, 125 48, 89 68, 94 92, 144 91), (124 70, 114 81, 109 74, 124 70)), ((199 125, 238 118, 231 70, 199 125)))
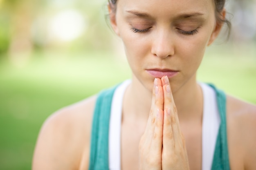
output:
MULTIPOLYGON (((111 105, 109 129, 109 169, 121 170, 121 116, 124 92, 130 80, 117 87, 111 105)), ((220 116, 215 91, 200 83, 204 97, 202 120, 202 170, 211 170, 213 155, 220 127, 220 116)))

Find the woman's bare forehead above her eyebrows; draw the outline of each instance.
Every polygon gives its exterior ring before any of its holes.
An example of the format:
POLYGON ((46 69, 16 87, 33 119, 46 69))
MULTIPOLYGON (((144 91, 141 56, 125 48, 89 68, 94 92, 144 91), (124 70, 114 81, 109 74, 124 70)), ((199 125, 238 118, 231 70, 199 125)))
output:
POLYGON ((190 13, 214 14, 214 0, 118 0, 117 10, 136 11, 150 17, 176 17, 190 13))

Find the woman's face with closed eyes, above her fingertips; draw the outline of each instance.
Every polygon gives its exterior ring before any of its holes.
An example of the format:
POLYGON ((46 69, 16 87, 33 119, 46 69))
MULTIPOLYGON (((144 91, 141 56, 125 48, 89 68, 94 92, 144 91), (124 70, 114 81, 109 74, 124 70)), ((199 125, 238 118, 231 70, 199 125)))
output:
POLYGON ((163 75, 173 92, 195 81, 205 48, 221 27, 213 0, 118 0, 110 21, 132 73, 150 91, 163 75))

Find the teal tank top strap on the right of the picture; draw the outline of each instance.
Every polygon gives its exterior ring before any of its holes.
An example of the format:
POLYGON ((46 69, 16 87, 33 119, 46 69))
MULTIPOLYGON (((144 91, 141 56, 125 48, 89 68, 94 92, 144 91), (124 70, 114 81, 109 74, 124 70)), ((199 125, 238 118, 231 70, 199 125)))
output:
POLYGON ((211 169, 230 170, 227 144, 226 95, 223 91, 218 90, 215 86, 211 84, 209 85, 216 91, 218 110, 220 114, 220 128, 211 169))

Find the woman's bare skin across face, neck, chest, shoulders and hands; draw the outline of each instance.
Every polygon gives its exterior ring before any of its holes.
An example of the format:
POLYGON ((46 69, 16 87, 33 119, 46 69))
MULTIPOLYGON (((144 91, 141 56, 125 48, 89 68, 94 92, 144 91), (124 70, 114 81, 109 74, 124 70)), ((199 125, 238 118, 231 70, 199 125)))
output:
MULTIPOLYGON (((214 8, 208 0, 118 0, 115 12, 109 8, 112 28, 124 42, 133 73, 123 101, 122 170, 201 169, 203 97, 196 71, 222 27, 214 8), (176 72, 171 77, 148 73, 156 68, 176 72)), ((225 17, 225 10, 221 14, 225 17)), ((96 97, 63 108, 45 121, 33 170, 88 169, 96 97)), ((227 96, 232 170, 256 169, 255 122, 256 106, 227 96)))

